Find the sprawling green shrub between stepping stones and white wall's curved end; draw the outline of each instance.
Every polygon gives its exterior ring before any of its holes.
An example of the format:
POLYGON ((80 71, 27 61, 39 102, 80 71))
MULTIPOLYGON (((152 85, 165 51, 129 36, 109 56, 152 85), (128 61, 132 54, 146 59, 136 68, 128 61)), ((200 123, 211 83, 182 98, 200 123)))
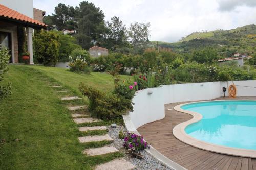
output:
POLYGON ((89 110, 101 119, 122 118, 128 110, 132 110, 131 100, 116 93, 104 93, 96 88, 79 85, 79 90, 89 99, 89 110))

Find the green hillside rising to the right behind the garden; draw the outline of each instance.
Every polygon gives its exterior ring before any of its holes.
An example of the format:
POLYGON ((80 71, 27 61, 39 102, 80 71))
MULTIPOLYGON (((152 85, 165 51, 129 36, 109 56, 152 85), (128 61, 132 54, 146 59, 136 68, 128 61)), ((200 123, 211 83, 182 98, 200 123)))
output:
POLYGON ((256 25, 246 25, 231 30, 195 32, 176 43, 151 41, 151 44, 185 53, 211 46, 223 57, 230 57, 233 53, 251 54, 255 52, 256 25))

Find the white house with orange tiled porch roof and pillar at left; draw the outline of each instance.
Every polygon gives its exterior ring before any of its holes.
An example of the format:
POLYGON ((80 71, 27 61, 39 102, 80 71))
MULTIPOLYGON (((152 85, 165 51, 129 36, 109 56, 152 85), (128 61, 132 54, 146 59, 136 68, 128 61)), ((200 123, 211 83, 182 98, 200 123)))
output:
POLYGON ((33 29, 46 29, 42 23, 45 12, 33 8, 33 0, 0 1, 0 47, 10 50, 10 63, 18 63, 18 28, 26 28, 27 47, 30 53, 30 64, 33 62, 33 29), (35 18, 34 19, 34 13, 35 18), (40 20, 40 21, 39 21, 40 20))

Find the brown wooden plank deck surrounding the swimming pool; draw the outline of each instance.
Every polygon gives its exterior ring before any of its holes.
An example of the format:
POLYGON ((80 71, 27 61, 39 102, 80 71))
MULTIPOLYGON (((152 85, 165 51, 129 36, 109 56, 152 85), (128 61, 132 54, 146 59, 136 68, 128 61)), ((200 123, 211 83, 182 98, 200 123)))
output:
MULTIPOLYGON (((219 100, 223 100, 223 98, 219 98, 219 100)), ((167 109, 182 103, 184 102, 165 105, 165 118, 141 126, 137 129, 138 132, 160 153, 187 169, 256 170, 256 159, 205 151, 176 139, 172 132, 173 128, 179 123, 191 119, 192 116, 167 109)))

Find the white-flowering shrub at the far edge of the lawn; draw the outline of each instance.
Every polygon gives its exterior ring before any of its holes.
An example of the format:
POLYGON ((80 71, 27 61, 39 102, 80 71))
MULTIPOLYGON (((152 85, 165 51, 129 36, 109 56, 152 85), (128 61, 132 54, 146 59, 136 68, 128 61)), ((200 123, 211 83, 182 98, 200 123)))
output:
POLYGON ((70 57, 70 71, 72 72, 89 72, 90 69, 87 66, 87 62, 82 56, 77 56, 76 58, 70 57))

